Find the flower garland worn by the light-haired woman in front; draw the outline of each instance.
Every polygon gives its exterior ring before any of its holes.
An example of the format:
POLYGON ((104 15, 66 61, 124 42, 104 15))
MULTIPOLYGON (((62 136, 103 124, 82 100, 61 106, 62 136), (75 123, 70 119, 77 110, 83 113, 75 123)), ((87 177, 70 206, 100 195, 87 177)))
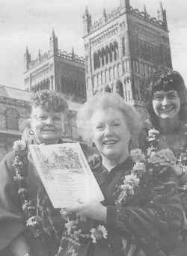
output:
MULTIPOLYGON (((135 162, 131 174, 125 175, 123 184, 120 185, 120 194, 117 198, 116 204, 122 204, 126 198, 135 194, 135 187, 139 185, 142 175, 145 173, 144 161, 146 157, 140 149, 131 150, 132 160, 135 162)), ((82 232, 78 227, 81 217, 76 214, 75 216, 69 215, 63 209, 61 210, 61 215, 66 219, 65 224, 66 232, 61 238, 61 246, 59 252, 64 248, 64 241, 69 241, 70 246, 67 249, 67 253, 72 253, 73 256, 77 255, 76 246, 80 246, 85 240, 90 240, 91 243, 98 243, 99 240, 107 239, 108 231, 104 225, 98 225, 96 228, 91 228, 88 234, 82 232)))

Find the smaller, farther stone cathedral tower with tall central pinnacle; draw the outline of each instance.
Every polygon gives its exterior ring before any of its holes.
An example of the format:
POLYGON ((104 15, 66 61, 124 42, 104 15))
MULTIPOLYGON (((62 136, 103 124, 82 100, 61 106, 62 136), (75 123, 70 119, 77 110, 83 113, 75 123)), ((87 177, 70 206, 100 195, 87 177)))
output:
POLYGON ((49 39, 49 51, 31 59, 26 48, 24 85, 28 91, 50 89, 59 91, 72 102, 83 103, 86 100, 85 59, 76 55, 74 50, 67 53, 58 49, 58 37, 55 31, 49 39))

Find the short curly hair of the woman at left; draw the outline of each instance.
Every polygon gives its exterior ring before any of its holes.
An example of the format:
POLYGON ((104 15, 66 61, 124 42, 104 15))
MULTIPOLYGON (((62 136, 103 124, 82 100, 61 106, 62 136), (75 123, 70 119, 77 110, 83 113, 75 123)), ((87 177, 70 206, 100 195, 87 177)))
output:
POLYGON ((31 109, 40 106, 46 111, 64 112, 68 106, 64 97, 56 91, 41 90, 31 96, 31 109))

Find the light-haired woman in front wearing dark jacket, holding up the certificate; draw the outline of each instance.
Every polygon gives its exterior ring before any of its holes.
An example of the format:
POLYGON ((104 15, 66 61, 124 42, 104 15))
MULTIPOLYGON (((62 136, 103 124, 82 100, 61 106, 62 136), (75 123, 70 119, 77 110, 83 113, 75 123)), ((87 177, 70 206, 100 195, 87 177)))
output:
POLYGON ((141 129, 138 112, 118 94, 96 94, 78 113, 78 127, 101 162, 92 171, 105 200, 67 214, 59 256, 171 255, 180 243, 183 207, 170 171, 153 171, 141 150, 129 152, 141 129))

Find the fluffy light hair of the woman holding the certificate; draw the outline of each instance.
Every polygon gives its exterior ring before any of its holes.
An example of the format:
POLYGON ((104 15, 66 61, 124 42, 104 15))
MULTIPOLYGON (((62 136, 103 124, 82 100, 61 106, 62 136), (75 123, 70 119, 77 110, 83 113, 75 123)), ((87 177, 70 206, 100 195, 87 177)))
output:
POLYGON ((129 103, 125 103, 119 94, 102 93, 91 97, 77 114, 77 127, 79 133, 85 141, 91 141, 91 118, 98 109, 115 109, 123 114, 126 126, 132 136, 132 140, 137 140, 142 128, 141 115, 129 103))

